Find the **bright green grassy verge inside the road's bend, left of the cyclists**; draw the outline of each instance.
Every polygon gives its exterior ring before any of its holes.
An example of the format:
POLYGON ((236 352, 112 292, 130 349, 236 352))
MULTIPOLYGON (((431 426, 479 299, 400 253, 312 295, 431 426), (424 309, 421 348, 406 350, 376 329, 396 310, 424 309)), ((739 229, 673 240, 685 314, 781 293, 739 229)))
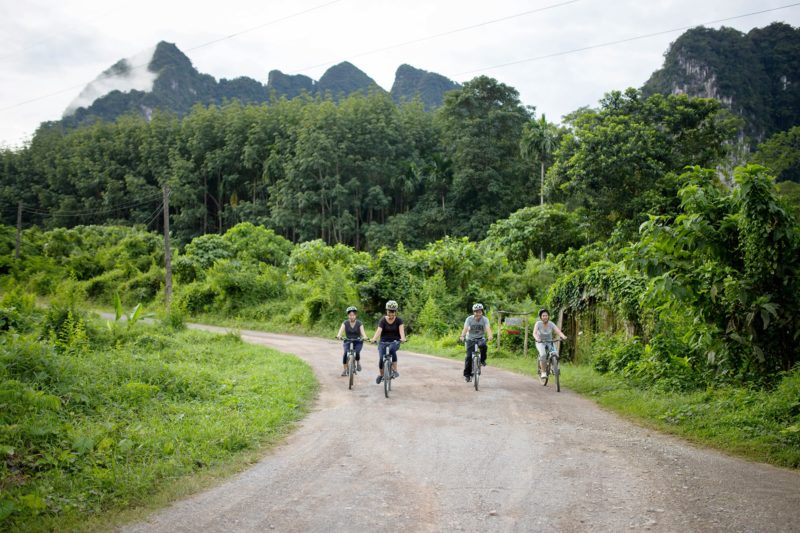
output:
POLYGON ((118 326, 0 337, 0 530, 138 517, 254 461, 315 395, 308 365, 238 336, 118 326))

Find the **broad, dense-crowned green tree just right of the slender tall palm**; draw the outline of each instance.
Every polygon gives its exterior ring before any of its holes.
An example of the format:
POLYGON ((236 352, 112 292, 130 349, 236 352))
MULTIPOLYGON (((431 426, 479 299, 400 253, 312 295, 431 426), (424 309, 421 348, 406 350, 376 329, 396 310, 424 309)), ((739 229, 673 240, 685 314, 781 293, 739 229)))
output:
POLYGON ((570 207, 585 207, 595 238, 618 224, 633 237, 650 213, 672 212, 678 174, 714 167, 738 121, 716 100, 612 92, 599 110, 580 110, 555 153, 548 186, 570 207))

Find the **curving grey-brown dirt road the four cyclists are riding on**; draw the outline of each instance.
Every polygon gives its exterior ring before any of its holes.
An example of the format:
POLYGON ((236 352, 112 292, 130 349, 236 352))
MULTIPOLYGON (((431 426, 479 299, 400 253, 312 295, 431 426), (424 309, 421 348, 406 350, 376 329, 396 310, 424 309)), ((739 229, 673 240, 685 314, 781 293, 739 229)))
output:
POLYGON ((799 473, 639 428, 563 388, 488 367, 476 392, 458 363, 401 351, 387 400, 373 345, 349 391, 339 343, 242 337, 308 361, 315 408, 249 470, 124 531, 800 529, 799 473))

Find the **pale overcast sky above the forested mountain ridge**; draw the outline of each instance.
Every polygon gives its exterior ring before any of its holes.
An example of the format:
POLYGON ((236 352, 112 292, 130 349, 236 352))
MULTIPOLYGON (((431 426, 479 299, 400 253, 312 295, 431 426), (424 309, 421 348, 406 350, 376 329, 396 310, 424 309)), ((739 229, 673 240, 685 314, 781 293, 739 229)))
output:
POLYGON ((217 79, 266 83, 272 69, 319 79, 345 60, 386 90, 403 63, 458 82, 486 74, 557 122, 610 90, 640 87, 682 28, 705 23, 747 32, 774 21, 797 27, 800 5, 710 23, 793 3, 0 0, 0 146, 19 146, 40 122, 60 118, 103 70, 162 40, 217 79), (666 33, 595 47, 658 32, 666 33), (593 48, 578 51, 586 47, 593 48))

